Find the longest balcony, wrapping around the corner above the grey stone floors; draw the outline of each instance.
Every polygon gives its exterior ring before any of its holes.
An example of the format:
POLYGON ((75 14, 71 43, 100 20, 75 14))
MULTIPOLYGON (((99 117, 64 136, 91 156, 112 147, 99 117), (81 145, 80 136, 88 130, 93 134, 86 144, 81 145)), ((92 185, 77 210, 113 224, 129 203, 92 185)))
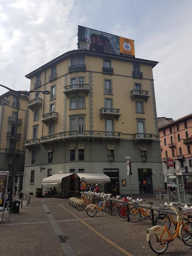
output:
POLYGON ((92 131, 92 130, 76 130, 76 131, 66 131, 66 132, 59 132, 50 135, 46 135, 41 137, 40 143, 50 142, 50 141, 62 141, 67 139, 76 139, 76 138, 86 138, 86 139, 93 139, 93 138, 101 138, 102 141, 105 139, 112 139, 112 140, 121 140, 121 132, 106 132, 106 131, 92 131))

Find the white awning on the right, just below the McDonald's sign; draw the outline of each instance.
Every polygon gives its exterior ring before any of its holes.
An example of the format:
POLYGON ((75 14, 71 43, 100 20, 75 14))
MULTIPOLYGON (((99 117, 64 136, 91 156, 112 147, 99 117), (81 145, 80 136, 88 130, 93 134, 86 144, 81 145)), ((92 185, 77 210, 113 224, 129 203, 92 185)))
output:
POLYGON ((82 180, 85 178, 86 183, 110 183, 110 177, 104 173, 76 173, 77 176, 82 180))

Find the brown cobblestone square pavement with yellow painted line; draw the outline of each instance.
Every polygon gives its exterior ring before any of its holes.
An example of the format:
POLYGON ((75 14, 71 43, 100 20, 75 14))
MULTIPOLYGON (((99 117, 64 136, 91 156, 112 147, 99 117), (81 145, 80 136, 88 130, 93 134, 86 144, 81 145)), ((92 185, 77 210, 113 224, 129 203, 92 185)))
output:
MULTIPOLYGON (((154 198, 149 201, 153 201, 154 205, 162 202, 154 198)), ((111 216, 103 211, 89 217, 85 210, 78 211, 71 207, 67 199, 32 196, 30 205, 20 209, 20 214, 11 214, 9 222, 0 224, 0 255, 153 256, 156 254, 146 241, 146 231, 150 227, 149 219, 128 223, 119 215, 111 216), (57 233, 57 229, 62 233, 57 233), (60 243, 58 234, 65 236, 66 243, 60 243), (70 248, 76 254, 70 254, 70 248)), ((176 239, 164 255, 191 256, 192 248, 176 239)))

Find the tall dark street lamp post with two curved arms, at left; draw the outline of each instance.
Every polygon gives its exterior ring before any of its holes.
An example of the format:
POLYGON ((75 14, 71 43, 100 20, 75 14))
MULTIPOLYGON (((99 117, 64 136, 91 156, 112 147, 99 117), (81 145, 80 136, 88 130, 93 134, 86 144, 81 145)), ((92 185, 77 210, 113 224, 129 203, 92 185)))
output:
POLYGON ((20 94, 29 95, 32 92, 42 92, 43 94, 50 94, 50 91, 44 90, 44 91, 15 91, 12 90, 2 84, 0 84, 1 87, 6 88, 7 90, 14 92, 17 94, 17 115, 16 115, 16 124, 15 124, 15 134, 14 134, 14 144, 13 144, 13 155, 12 155, 12 171, 11 171, 11 187, 10 187, 10 200, 9 200, 9 208, 10 213, 12 211, 12 201, 13 201, 13 179, 14 179, 14 168, 15 168, 15 151, 16 151, 16 141, 17 141, 17 124, 18 124, 18 115, 19 115, 19 96, 20 94))

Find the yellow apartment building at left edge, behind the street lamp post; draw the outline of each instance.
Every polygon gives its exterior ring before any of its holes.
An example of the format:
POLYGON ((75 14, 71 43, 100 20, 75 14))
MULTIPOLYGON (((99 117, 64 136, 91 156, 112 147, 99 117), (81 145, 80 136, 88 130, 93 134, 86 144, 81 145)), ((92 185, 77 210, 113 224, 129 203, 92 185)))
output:
MULTIPOLYGON (((17 186, 18 192, 22 190, 23 184, 25 161, 24 144, 27 132, 28 100, 28 96, 20 95, 14 173, 14 186, 17 186)), ((11 184, 16 114, 17 95, 10 91, 2 94, 0 96, 0 171, 9 171, 8 186, 11 184)))

